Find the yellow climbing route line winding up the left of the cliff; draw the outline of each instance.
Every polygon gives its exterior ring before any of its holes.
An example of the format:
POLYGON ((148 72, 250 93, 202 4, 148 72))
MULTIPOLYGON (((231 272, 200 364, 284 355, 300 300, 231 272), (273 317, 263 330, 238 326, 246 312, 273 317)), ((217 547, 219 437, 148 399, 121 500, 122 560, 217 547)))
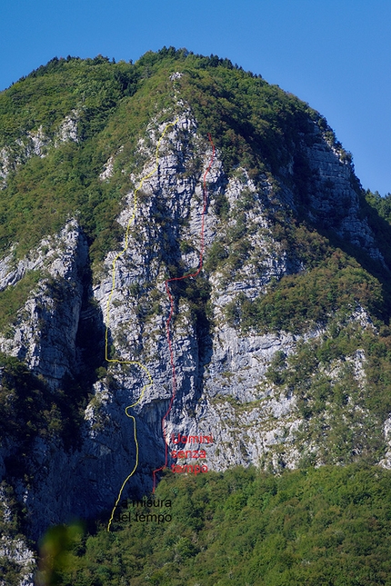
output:
POLYGON ((118 506, 118 502, 120 502, 121 500, 121 495, 122 492, 124 491, 125 488, 125 484, 126 482, 129 480, 129 478, 131 478, 133 476, 133 474, 135 473, 135 470, 138 466, 138 442, 137 442, 137 434, 135 431, 135 417, 133 415, 129 415, 129 413, 127 412, 128 409, 131 409, 132 407, 135 407, 135 405, 137 405, 141 399, 143 398, 145 389, 147 389, 148 387, 150 387, 154 382, 152 380, 152 376, 151 373, 148 371, 148 369, 146 368, 146 366, 142 363, 137 362, 136 360, 116 360, 115 358, 109 358, 108 357, 108 327, 109 327, 109 322, 110 322, 110 302, 111 299, 113 297, 113 294, 115 292, 115 263, 118 261, 119 258, 121 258, 121 256, 123 254, 125 254, 128 245, 129 245, 129 231, 130 231, 130 226, 132 223, 135 222, 135 214, 137 212, 137 192, 140 191, 140 189, 143 187, 144 182, 146 181, 146 179, 149 179, 150 177, 152 177, 153 174, 155 174, 155 172, 158 169, 159 166, 159 147, 160 147, 160 143, 162 142, 163 138, 165 137, 165 133, 167 132, 168 128, 170 126, 175 126, 175 124, 178 122, 179 118, 176 118, 175 122, 167 124, 165 126, 165 130, 163 131, 163 134, 160 136, 159 140, 157 141, 156 144, 156 150, 155 150, 155 167, 154 169, 148 173, 147 175, 145 175, 145 177, 142 178, 142 180, 140 181, 140 184, 138 185, 138 187, 135 189, 135 194, 134 194, 134 198, 133 198, 133 213, 131 218, 129 219, 127 226, 126 226, 126 232, 125 232, 125 246, 124 249, 118 253, 115 256, 115 259, 113 261, 113 271, 112 271, 112 287, 111 287, 111 292, 108 296, 107 299, 107 305, 106 305, 106 318, 105 318, 105 360, 107 363, 117 363, 117 364, 135 364, 136 366, 138 366, 139 368, 141 368, 147 375, 149 382, 147 382, 144 387, 143 390, 140 394, 140 396, 138 397, 137 401, 132 403, 131 405, 128 405, 125 408, 125 413, 127 415, 127 417, 129 417, 132 421, 133 421, 133 429, 134 429, 134 435, 135 435, 135 467, 132 470, 132 472, 130 472, 130 474, 128 476, 126 476, 125 481, 123 482, 121 489, 118 493, 118 497, 115 501, 115 505, 113 508, 113 511, 111 512, 111 517, 110 517, 110 521, 108 521, 108 525, 107 525, 107 531, 110 531, 110 525, 113 521, 114 518, 114 513, 115 513, 115 509, 118 506))

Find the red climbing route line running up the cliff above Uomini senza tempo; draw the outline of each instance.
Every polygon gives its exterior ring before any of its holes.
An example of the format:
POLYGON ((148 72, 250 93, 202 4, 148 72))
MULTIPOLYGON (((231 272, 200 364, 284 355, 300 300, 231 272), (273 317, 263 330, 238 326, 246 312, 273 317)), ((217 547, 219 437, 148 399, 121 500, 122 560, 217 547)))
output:
MULTIPOLYGON (((213 161, 215 159, 215 144, 213 144, 212 137, 209 133, 207 134, 207 137, 209 139, 210 144, 212 144, 212 156, 210 157, 209 166, 206 169, 206 172, 205 172, 204 178, 203 178, 203 194, 204 194, 203 204, 204 205, 203 205, 203 210, 202 210, 202 214, 201 214, 201 218, 202 218, 202 220, 201 220, 201 249, 200 249, 200 253, 199 253, 199 266, 198 266, 198 269, 195 271, 195 273, 184 274, 182 277, 173 277, 172 279, 167 279, 165 281, 165 291, 166 291, 168 298, 170 300, 170 314, 169 314, 168 319, 165 323, 165 330, 167 333, 168 348, 170 350, 171 369, 173 372, 173 394, 171 395, 171 401, 168 405, 168 409, 165 412, 165 415, 162 419, 162 430, 163 430, 164 440, 165 440, 165 420, 173 407, 173 402, 174 402, 175 394, 176 394, 176 372, 175 372, 173 347, 172 347, 171 337, 170 337, 170 323, 171 323, 171 320, 172 320, 172 317, 174 314, 174 298, 171 294, 168 283, 172 283, 173 281, 183 281, 184 279, 188 279, 189 277, 196 277, 202 271, 202 265, 203 265, 203 260, 204 260, 204 249, 205 249, 204 228, 205 228, 205 214, 206 214, 206 205, 207 205, 206 175, 210 172, 213 161)), ((152 489, 153 493, 155 493, 156 472, 160 472, 161 470, 164 470, 167 467, 167 462, 168 462, 168 445, 167 445, 167 442, 165 442, 165 465, 161 466, 160 468, 157 468, 153 472, 153 475, 154 475, 154 487, 152 489)))

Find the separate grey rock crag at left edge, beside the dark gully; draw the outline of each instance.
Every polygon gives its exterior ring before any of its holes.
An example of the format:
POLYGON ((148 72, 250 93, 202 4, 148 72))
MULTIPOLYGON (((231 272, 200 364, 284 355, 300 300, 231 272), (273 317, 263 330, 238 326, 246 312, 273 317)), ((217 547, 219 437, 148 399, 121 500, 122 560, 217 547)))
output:
POLYGON ((57 237, 43 241, 31 258, 13 266, 8 256, 0 263, 0 290, 15 285, 32 270, 43 275, 12 330, 0 337, 0 348, 24 360, 53 385, 72 372, 76 360, 87 254, 85 237, 71 221, 57 237))

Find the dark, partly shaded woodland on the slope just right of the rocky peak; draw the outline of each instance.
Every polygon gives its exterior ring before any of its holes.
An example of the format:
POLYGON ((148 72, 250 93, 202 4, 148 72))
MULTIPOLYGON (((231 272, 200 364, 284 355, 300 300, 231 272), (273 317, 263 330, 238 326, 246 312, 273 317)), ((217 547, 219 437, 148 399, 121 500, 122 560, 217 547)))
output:
POLYGON ((311 119, 322 118, 307 104, 259 76, 223 64, 200 67, 189 55, 179 80, 204 134, 220 149, 226 171, 243 165, 251 176, 278 174, 296 152, 297 133, 309 138, 311 119))

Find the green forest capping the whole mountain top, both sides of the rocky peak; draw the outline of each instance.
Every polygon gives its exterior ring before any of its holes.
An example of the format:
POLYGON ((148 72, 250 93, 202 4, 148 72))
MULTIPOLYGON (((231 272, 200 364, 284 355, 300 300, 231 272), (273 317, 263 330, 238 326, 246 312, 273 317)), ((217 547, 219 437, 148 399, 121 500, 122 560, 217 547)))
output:
POLYGON ((201 131, 213 134, 227 171, 239 163, 255 174, 276 171, 295 134, 306 132, 308 116, 326 127, 307 104, 226 59, 173 49, 147 53, 135 64, 55 58, 0 94, 0 147, 11 166, 0 200, 0 249, 17 242, 23 254, 69 215, 79 217, 93 260, 113 248, 118 204, 131 188, 125 177, 143 161, 136 141, 162 111, 165 119, 174 115, 169 76, 175 71, 183 72, 175 84, 201 131), (77 142, 59 141, 67 116, 75 120, 77 142), (45 158, 28 154, 31 136, 41 134, 45 158), (115 176, 101 182, 113 154, 115 176))

